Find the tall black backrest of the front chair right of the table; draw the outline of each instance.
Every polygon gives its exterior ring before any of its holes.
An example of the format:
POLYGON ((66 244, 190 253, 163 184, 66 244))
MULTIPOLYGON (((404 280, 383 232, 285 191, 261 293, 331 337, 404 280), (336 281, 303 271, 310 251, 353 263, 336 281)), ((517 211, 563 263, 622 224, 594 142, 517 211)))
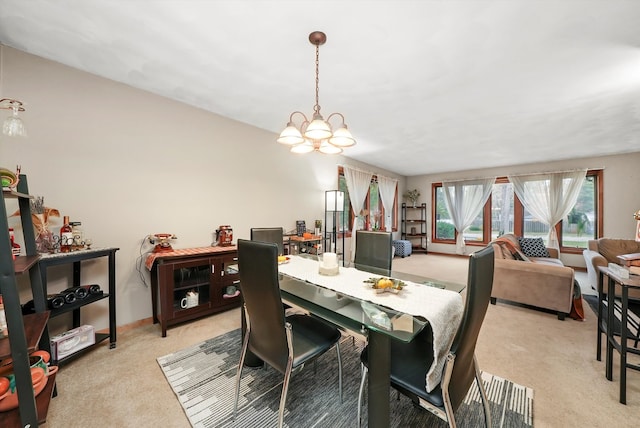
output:
POLYGON ((460 406, 475 379, 474 352, 491 297, 493 263, 492 246, 487 246, 469 257, 464 312, 451 345, 455 364, 449 382, 449 395, 454 409, 460 406))

